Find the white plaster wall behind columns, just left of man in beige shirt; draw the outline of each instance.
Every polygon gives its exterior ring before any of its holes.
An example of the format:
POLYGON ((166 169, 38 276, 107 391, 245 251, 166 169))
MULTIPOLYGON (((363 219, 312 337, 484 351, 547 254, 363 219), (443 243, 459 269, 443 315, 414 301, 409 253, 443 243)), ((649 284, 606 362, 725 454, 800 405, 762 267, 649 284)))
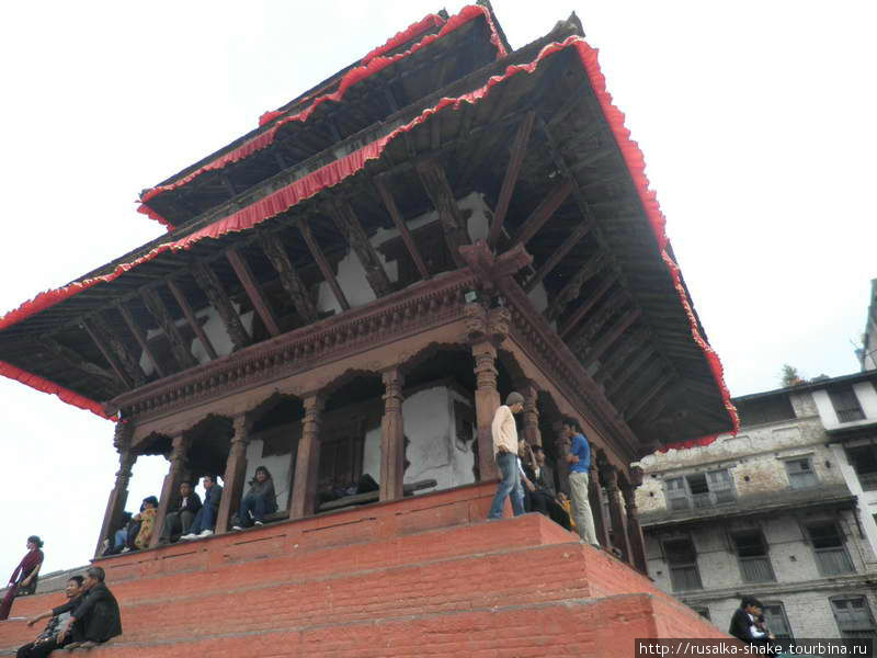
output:
MULTIPOLYGON (((472 442, 457 441, 454 400, 470 404, 453 390, 438 386, 420 390, 402 402, 405 434, 410 463, 405 484, 435 479, 435 489, 458 487, 475 481, 472 442)), ((363 473, 380 481, 380 428, 365 435, 363 473)))

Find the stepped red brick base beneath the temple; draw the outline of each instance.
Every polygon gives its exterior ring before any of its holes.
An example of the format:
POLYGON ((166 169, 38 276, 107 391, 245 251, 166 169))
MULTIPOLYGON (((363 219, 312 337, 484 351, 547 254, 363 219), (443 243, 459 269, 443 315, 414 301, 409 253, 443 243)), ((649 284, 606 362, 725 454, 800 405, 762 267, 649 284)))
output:
MULTIPOLYGON (((96 560, 125 633, 89 655, 620 657, 634 655, 637 637, 722 635, 545 517, 486 522, 494 487, 96 560)), ((61 592, 27 597, 12 614, 61 601, 61 592)), ((36 632, 0 623, 0 655, 14 656, 36 632)))

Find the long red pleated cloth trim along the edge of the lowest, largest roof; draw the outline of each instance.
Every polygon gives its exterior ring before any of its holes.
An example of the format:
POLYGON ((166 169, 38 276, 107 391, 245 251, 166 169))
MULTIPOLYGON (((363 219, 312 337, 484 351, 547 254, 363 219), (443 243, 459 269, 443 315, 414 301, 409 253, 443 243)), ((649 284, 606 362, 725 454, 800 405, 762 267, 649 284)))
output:
POLYGON ((190 249, 195 242, 198 242, 205 238, 218 239, 230 232, 248 230, 253 226, 289 209, 299 202, 314 196, 321 190, 337 185, 344 179, 355 174, 357 171, 363 169, 369 160, 379 158, 390 141, 396 139, 399 135, 412 131, 420 124, 426 122, 433 114, 448 106, 453 107, 454 110, 458 110, 463 103, 476 104, 481 99, 487 97, 494 86, 517 73, 533 72, 543 59, 567 47, 574 47, 577 49, 582 65, 584 66, 585 72, 591 81, 591 86, 600 101, 601 107, 603 109, 606 121, 613 131, 615 139, 618 143, 618 147, 624 154, 628 172, 634 180, 640 198, 643 200, 643 207, 656 238, 658 239, 661 257, 667 264, 668 270, 670 271, 674 286, 679 293, 680 300, 682 302, 682 305, 688 317, 692 338, 704 351, 713 376, 721 392, 725 407, 732 420, 733 431, 737 432, 739 428, 739 419, 737 417, 737 410, 730 401, 728 388, 725 385, 721 362, 719 361, 719 358, 713 348, 709 347, 709 344, 701 334, 697 328, 696 318, 694 317, 694 311, 688 303, 685 290, 682 286, 679 266, 675 264, 675 262, 673 262, 673 259, 670 258, 665 250, 665 246, 668 243, 667 235, 664 232, 665 220, 663 214, 661 213, 660 206, 658 205, 658 200, 654 193, 648 189, 648 179, 645 174, 645 159, 642 154, 636 143, 630 140, 629 131, 624 127, 624 115, 612 104, 612 98, 606 91, 605 78, 600 71, 596 50, 591 48, 591 46, 589 46, 581 37, 574 35, 568 37, 562 43, 548 44, 542 49, 536 59, 529 64, 509 66, 504 73, 491 77, 487 83, 479 89, 454 99, 441 99, 433 107, 424 110, 420 115, 407 124, 399 126, 388 135, 367 144, 361 149, 339 160, 335 160, 334 162, 326 164, 324 167, 303 177, 297 181, 294 181, 293 183, 289 183, 285 188, 277 190, 264 198, 252 203, 248 207, 242 208, 229 215, 228 217, 218 219, 217 222, 214 222, 209 226, 206 226, 190 236, 159 245, 150 252, 141 256, 135 261, 117 265, 109 274, 76 282, 62 288, 41 293, 31 302, 25 302, 18 309, 12 310, 0 318, 0 329, 4 329, 16 322, 20 322, 26 317, 54 306, 64 299, 72 297, 79 292, 96 285, 98 283, 113 281, 114 279, 121 276, 124 272, 136 268, 140 263, 148 262, 166 251, 186 250, 190 249))

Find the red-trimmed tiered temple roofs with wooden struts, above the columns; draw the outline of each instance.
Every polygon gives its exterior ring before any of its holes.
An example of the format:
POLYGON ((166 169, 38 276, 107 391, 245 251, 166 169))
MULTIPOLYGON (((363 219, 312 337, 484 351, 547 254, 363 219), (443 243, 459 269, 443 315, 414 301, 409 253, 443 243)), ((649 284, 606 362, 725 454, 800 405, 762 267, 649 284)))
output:
MULTIPOLYGON (((246 392, 307 400, 346 367, 468 345, 470 375, 513 354, 509 376, 620 465, 731 430, 583 36, 573 15, 512 50, 480 4, 412 25, 145 191, 169 232, 0 318, 0 373, 121 415, 136 444, 246 392)), ((428 374, 465 378, 446 365, 428 374)))

